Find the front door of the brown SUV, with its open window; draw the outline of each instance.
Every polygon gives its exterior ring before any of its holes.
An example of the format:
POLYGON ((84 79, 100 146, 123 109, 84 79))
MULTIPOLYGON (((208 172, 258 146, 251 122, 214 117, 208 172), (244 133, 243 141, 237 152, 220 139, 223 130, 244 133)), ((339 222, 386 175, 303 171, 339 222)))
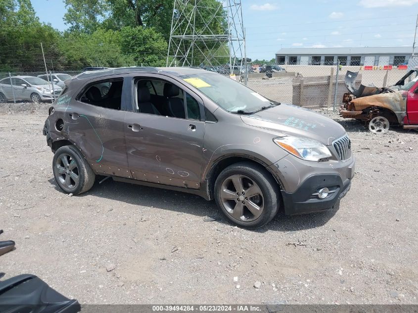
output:
POLYGON ((174 80, 137 78, 126 116, 129 168, 134 179, 199 188, 202 101, 174 80))

